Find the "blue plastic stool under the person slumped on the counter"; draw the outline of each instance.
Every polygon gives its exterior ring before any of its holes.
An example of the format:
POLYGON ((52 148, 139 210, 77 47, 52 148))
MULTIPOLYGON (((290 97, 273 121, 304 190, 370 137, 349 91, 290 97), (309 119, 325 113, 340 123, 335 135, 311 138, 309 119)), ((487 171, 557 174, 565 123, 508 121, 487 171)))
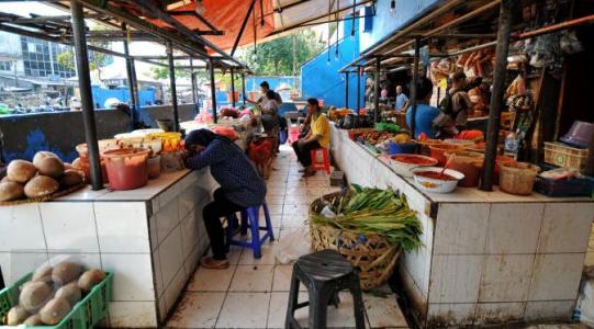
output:
POLYGON ((254 250, 254 258, 260 259, 262 257, 262 245, 267 239, 274 241, 274 234, 272 232, 272 223, 270 222, 270 214, 268 213, 268 205, 264 202, 259 206, 253 206, 242 212, 240 232, 242 236, 247 235, 247 228, 251 230, 251 241, 234 240, 235 223, 237 222, 237 215, 231 214, 227 216, 227 247, 228 246, 242 246, 251 248, 254 250), (266 218, 266 226, 260 226, 260 206, 264 208, 264 216, 266 218), (260 230, 266 230, 266 234, 260 238, 260 230))

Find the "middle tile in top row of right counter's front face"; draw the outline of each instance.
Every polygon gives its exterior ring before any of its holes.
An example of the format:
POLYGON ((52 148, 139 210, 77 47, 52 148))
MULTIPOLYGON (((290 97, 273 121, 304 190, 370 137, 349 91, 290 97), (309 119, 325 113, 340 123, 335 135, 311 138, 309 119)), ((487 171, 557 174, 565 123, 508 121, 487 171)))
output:
POLYGON ((493 204, 486 253, 535 253, 545 205, 493 204))

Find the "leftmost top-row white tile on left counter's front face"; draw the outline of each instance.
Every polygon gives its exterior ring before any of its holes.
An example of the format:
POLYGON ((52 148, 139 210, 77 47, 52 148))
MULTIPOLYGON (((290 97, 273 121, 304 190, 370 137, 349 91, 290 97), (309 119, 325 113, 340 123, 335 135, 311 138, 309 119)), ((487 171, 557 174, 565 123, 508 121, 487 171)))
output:
POLYGON ((10 232, 2 235, 0 251, 45 251, 45 237, 38 203, 0 207, 0 218, 2 218, 0 231, 10 232))

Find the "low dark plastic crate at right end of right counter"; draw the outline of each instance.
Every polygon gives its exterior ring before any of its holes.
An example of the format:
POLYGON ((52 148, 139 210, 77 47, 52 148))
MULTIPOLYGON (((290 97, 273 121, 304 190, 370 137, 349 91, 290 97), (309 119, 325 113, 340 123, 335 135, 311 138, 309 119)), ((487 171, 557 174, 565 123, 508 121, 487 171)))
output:
POLYGON ((594 178, 581 177, 569 180, 551 180, 536 177, 535 191, 547 196, 592 196, 594 178))

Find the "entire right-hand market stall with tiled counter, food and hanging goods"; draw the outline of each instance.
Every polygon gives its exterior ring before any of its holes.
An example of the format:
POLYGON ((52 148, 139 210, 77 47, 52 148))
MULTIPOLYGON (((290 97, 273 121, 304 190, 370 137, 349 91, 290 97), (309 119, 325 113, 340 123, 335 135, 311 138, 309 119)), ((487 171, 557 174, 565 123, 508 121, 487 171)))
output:
POLYGON ((594 125, 583 106, 563 105, 591 84, 568 89, 559 77, 591 54, 591 12, 580 1, 448 1, 340 70, 372 73, 374 97, 333 126, 337 166, 350 183, 403 193, 423 224, 424 246, 400 262, 421 326, 571 318, 594 214, 594 125), (412 78, 407 122, 380 103, 402 70, 412 78), (458 89, 469 102, 456 134, 418 120, 435 109, 456 121, 447 94, 458 89))

